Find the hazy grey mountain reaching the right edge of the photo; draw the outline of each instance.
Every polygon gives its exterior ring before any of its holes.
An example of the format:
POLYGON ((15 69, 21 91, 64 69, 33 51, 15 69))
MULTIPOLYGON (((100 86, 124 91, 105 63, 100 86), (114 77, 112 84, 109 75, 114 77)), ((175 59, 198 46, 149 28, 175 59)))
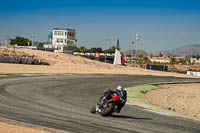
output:
POLYGON ((186 55, 200 55, 200 44, 196 45, 184 45, 171 50, 163 50, 155 52, 154 55, 159 55, 160 52, 163 55, 176 55, 176 56, 186 56, 186 55))

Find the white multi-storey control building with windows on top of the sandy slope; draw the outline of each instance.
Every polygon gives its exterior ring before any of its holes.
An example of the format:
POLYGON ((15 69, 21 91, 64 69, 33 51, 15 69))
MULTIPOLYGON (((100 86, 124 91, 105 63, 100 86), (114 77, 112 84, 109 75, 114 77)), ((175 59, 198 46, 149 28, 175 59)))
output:
POLYGON ((54 48, 63 51, 64 47, 76 45, 76 31, 69 28, 54 28, 49 34, 50 44, 44 45, 45 48, 54 48))

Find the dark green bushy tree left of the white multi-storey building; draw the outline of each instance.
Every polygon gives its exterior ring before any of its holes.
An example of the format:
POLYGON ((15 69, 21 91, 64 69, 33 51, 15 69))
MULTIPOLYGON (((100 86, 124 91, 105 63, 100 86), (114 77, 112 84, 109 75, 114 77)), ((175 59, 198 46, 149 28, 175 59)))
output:
POLYGON ((24 37, 16 37, 15 39, 10 39, 11 45, 18 45, 18 46, 28 46, 30 40, 24 37))

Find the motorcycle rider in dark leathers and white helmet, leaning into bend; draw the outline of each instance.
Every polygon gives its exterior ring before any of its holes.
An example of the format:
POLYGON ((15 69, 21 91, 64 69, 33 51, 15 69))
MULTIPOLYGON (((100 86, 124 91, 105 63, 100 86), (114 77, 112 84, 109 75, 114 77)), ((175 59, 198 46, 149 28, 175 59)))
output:
POLYGON ((126 100, 127 100, 127 92, 124 89, 124 87, 118 85, 114 89, 105 90, 104 94, 105 94, 105 99, 108 99, 111 96, 111 94, 117 94, 122 99, 122 103, 118 105, 117 109, 115 110, 117 113, 119 113, 121 109, 124 107, 124 105, 126 104, 126 100))

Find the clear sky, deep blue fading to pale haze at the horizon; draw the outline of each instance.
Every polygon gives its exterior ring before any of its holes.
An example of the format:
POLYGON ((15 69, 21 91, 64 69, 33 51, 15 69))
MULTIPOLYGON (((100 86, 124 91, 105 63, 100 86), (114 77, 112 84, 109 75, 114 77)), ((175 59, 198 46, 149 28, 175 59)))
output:
POLYGON ((47 41, 51 29, 75 28, 78 46, 106 48, 120 39, 130 49, 154 52, 200 44, 200 0, 1 0, 0 42, 5 36, 47 41))

